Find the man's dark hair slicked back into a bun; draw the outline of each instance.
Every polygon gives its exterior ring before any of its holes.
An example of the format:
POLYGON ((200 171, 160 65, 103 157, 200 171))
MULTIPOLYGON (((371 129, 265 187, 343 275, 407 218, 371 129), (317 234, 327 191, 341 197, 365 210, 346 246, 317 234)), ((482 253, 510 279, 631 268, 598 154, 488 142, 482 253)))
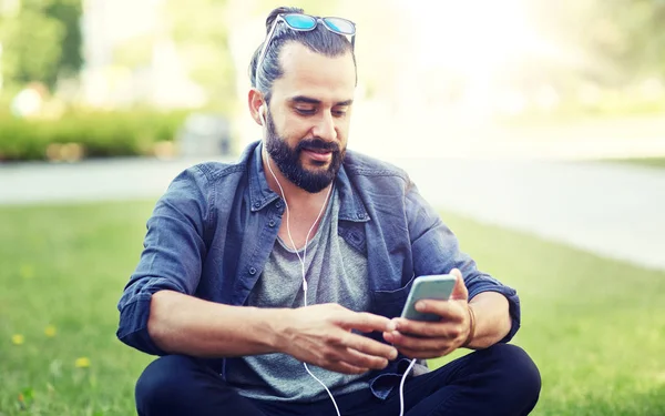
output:
MULTIPOLYGON (((277 16, 287 13, 304 13, 304 11, 303 9, 290 7, 280 7, 273 10, 266 19, 266 37, 270 32, 277 16)), ((263 42, 258 45, 249 62, 249 82, 252 83, 252 87, 264 93, 266 101, 269 101, 273 83, 284 74, 283 69, 279 67, 279 52, 286 43, 291 41, 299 42, 310 51, 330 58, 339 57, 350 51, 354 58, 354 65, 356 67, 356 54, 351 48, 351 42, 349 42, 346 37, 334 33, 328 29, 323 28, 320 24, 310 31, 290 30, 286 28, 285 24, 278 24, 273 33, 273 39, 270 40, 270 44, 264 57, 262 68, 258 69, 258 78, 256 63, 263 48, 263 42)))

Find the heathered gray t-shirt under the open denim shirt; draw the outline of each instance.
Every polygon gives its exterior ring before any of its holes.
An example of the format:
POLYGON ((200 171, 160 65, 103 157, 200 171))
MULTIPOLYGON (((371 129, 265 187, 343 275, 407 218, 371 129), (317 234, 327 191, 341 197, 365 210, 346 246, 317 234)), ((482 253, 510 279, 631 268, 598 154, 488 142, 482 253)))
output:
MULTIPOLYGON (((367 258, 338 235, 338 213, 339 196, 332 190, 319 229, 307 243, 307 257, 304 258, 307 304, 337 303, 351 311, 364 312, 369 306, 367 258)), ((264 272, 249 294, 249 306, 304 306, 301 265, 289 246, 277 239, 264 272)), ((301 257, 304 250, 299 254, 301 257)), ((242 361, 246 368, 226 376, 243 396, 297 402, 327 397, 324 387, 307 373, 303 363, 289 355, 265 354, 242 361)), ((364 375, 345 375, 314 365, 308 365, 308 368, 334 395, 368 387, 364 375)))

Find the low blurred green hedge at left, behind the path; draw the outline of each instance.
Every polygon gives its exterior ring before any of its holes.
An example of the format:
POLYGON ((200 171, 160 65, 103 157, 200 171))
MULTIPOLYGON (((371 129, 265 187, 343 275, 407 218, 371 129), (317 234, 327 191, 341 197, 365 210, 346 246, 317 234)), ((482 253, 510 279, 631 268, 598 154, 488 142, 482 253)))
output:
POLYGON ((0 118, 0 160, 44 160, 52 143, 74 143, 89 158, 152 154, 172 141, 185 112, 70 112, 58 120, 0 118))

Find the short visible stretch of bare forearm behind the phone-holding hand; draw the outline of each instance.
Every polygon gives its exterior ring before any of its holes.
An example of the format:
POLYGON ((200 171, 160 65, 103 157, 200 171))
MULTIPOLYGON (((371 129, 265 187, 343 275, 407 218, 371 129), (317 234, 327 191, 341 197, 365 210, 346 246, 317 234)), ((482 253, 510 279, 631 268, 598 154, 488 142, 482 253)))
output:
POLYGON ((483 292, 469 302, 475 316, 473 338, 468 347, 487 348, 503 339, 511 328, 509 304, 505 296, 497 292, 483 292))

